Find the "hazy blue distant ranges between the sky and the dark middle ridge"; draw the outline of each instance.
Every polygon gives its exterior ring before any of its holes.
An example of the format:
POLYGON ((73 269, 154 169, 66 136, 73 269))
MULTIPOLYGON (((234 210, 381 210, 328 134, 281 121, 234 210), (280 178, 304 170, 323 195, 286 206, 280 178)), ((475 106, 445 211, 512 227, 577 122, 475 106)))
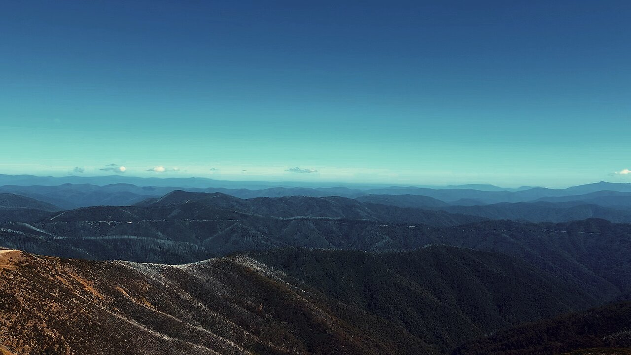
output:
MULTIPOLYGON (((442 210, 452 214, 466 214, 485 219, 512 219, 529 222, 567 222, 587 218, 601 218, 611 222, 631 222, 631 192, 627 184, 597 183, 575 186, 565 190, 532 188, 519 191, 480 191, 470 189, 398 188, 382 190, 353 190, 338 188, 267 188, 263 190, 225 188, 174 188, 168 186, 136 186, 132 184, 63 184, 59 186, 0 186, 0 192, 34 198, 52 205, 42 210, 66 210, 97 205, 134 205, 151 198, 158 199, 172 191, 224 193, 242 199, 257 197, 339 196, 354 198, 363 203, 376 203, 422 210, 442 210), (584 195, 575 193, 587 192, 584 195), (379 192, 378 194, 375 192, 379 192), (386 193, 385 195, 383 193, 386 193), (563 195, 565 194, 565 195, 563 195), (450 201, 450 202, 447 202, 450 201)), ((25 204, 21 207, 27 207, 25 204)), ((8 214, 4 208, 3 214, 8 214)), ((16 214, 0 220, 13 220, 16 214)), ((24 222, 35 220, 23 218, 24 222)))

